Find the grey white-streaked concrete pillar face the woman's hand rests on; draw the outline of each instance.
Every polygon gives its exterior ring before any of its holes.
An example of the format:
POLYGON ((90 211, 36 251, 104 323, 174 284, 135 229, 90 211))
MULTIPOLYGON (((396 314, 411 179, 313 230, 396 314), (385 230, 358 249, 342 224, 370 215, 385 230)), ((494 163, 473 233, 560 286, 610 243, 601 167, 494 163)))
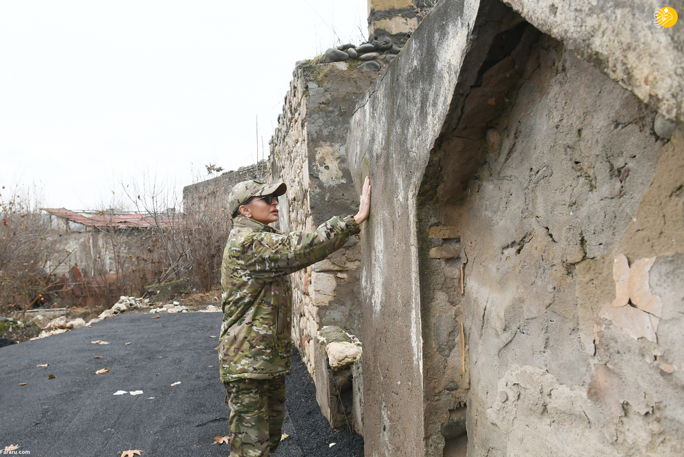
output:
POLYGON ((361 227, 367 456, 422 455, 425 447, 417 194, 476 13, 477 1, 441 0, 351 119, 354 183, 369 174, 373 186, 361 227))

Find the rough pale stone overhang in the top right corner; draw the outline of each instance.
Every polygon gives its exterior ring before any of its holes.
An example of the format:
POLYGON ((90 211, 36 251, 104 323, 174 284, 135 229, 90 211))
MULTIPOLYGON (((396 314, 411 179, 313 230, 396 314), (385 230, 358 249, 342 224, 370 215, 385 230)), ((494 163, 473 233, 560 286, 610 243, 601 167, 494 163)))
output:
POLYGON ((562 41, 620 86, 670 120, 684 121, 684 33, 681 24, 656 28, 663 6, 683 0, 506 0, 544 33, 562 41))

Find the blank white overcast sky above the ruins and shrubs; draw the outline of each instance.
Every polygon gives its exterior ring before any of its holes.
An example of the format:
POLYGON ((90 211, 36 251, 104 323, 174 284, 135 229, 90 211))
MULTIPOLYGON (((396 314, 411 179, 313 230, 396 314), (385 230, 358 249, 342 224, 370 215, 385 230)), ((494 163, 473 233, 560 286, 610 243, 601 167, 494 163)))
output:
POLYGON ((294 63, 363 41, 366 1, 1 0, 0 184, 97 209, 254 163, 256 117, 268 151, 294 63))

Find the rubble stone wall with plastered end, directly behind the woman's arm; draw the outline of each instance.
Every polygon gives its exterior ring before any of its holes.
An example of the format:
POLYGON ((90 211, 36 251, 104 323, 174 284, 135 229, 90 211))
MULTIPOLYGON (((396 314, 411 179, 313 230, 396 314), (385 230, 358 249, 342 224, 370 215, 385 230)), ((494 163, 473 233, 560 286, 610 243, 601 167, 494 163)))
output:
MULTIPOLYGON (((313 231, 334 215, 358 210, 359 194, 346 157, 349 117, 354 103, 378 75, 357 68, 359 64, 352 60, 302 62, 294 70, 270 142, 272 182, 287 184, 287 194, 278 206, 282 231, 313 231)), ((317 336, 325 326, 352 335, 361 333, 360 256, 355 236, 326 260, 292 275, 292 338, 314 376, 323 414, 334 427, 352 422, 350 405, 341 405, 340 392, 331 387, 325 344, 319 344, 317 336)), ((355 427, 359 430, 361 425, 355 427)))

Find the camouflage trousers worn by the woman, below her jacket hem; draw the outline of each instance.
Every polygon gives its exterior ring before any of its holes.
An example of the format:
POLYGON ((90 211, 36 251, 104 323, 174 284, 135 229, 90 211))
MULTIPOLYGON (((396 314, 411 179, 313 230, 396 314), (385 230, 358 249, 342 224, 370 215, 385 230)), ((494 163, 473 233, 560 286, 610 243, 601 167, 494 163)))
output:
POLYGON ((267 457, 281 442, 285 376, 224 382, 231 457, 267 457))

